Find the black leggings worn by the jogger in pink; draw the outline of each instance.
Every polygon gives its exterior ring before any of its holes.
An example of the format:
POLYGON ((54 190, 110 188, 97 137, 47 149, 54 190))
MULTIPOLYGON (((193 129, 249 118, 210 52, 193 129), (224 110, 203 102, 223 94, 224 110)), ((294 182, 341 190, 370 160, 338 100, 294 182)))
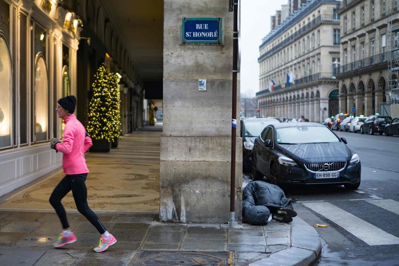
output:
POLYGON ((65 177, 55 187, 50 196, 50 204, 55 209, 59 219, 61 220, 63 229, 69 227, 65 209, 61 204, 61 199, 72 190, 73 199, 75 200, 77 210, 83 214, 89 222, 95 226, 100 234, 103 234, 105 227, 101 224, 99 217, 87 205, 87 188, 86 188, 87 173, 78 175, 65 175, 65 177))

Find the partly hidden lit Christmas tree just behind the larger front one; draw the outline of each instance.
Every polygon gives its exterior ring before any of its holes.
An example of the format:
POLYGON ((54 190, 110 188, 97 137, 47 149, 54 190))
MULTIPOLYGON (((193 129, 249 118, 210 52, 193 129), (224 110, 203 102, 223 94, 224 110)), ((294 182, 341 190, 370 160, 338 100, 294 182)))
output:
POLYGON ((111 132, 113 141, 120 139, 120 100, 119 100, 119 79, 115 73, 109 73, 109 86, 111 89, 111 109, 110 109, 110 120, 111 120, 111 132))

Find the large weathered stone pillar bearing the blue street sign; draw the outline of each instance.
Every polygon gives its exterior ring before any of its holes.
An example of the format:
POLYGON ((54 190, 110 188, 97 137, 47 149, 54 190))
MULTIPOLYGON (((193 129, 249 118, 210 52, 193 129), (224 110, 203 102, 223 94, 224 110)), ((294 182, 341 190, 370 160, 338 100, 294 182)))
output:
MULTIPOLYGON (((182 17, 203 16, 203 2, 164 0, 160 221, 229 221, 233 12, 225 0, 206 0, 206 16, 223 18, 223 45, 182 44, 182 17), (207 80, 206 91, 198 90, 198 79, 207 80)), ((234 197, 241 223, 240 75, 237 79, 234 197)))

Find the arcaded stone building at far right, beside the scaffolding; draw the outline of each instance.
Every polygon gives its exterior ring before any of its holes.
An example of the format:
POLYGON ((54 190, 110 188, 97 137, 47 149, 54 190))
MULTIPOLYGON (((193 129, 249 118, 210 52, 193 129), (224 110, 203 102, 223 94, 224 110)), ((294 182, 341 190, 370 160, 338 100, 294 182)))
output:
MULTIPOLYGON (((336 69, 342 112, 369 116, 383 112, 389 97, 388 60, 392 28, 399 27, 397 0, 344 0, 341 16, 340 55, 336 69), (382 105, 381 105, 382 106, 382 105)), ((397 79, 393 77, 392 79, 397 79)))

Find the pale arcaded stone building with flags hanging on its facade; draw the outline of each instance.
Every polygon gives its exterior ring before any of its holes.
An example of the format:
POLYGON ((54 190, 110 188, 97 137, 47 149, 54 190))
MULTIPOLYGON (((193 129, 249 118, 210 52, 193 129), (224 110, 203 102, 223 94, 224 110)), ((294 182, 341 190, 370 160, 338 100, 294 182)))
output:
POLYGON ((301 2, 290 1, 300 7, 259 46, 259 114, 320 122, 339 112, 339 2, 301 2))

